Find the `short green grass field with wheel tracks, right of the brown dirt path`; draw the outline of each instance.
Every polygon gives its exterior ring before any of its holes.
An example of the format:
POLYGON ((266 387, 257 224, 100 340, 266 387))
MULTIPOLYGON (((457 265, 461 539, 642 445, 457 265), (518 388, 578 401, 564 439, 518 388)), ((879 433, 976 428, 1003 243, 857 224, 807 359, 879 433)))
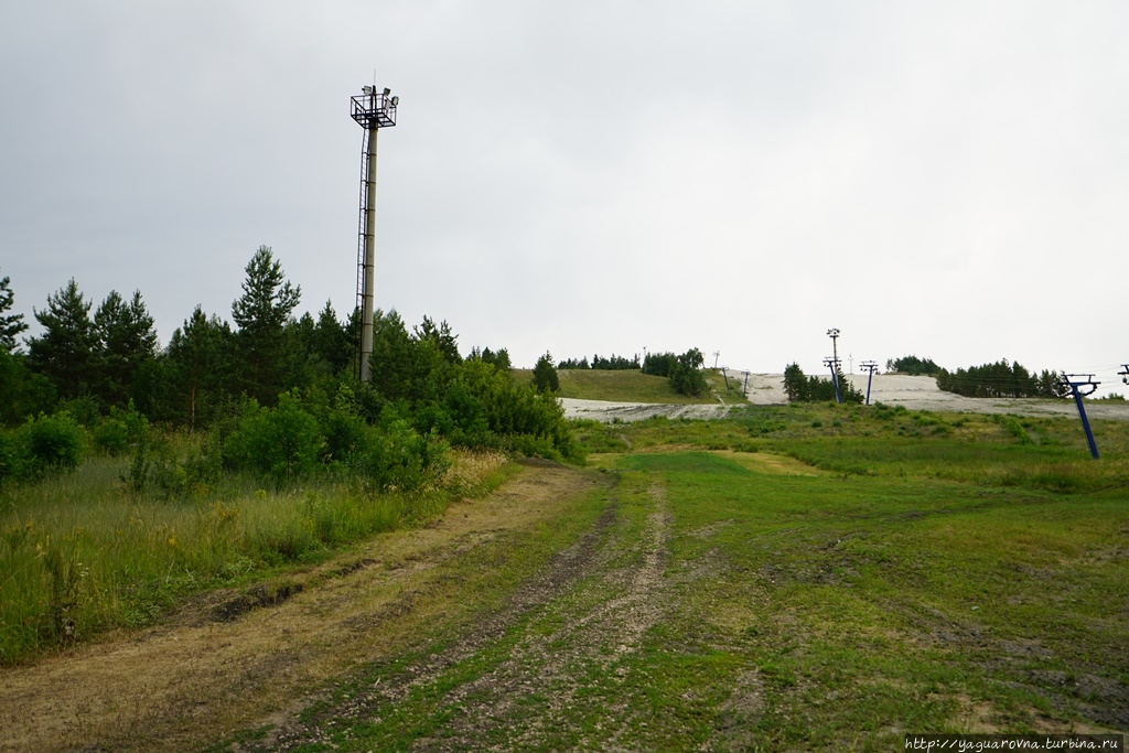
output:
POLYGON ((597 564, 457 651, 448 636, 366 665, 288 750, 1124 732, 1129 426, 1096 428, 1100 462, 1053 418, 796 405, 584 422, 612 484, 597 564))

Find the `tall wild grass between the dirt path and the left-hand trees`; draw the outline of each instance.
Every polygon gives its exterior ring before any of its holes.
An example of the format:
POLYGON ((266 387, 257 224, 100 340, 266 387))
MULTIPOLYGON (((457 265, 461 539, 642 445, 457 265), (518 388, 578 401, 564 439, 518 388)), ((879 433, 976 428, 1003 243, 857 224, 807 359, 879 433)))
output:
POLYGON ((429 519, 454 494, 481 494, 506 475, 498 454, 456 454, 441 488, 367 491, 321 478, 278 489, 247 475, 190 499, 131 491, 129 461, 88 459, 76 472, 0 490, 0 664, 143 624, 178 597, 233 585, 336 546, 429 519), (264 488, 265 487, 265 488, 264 488))

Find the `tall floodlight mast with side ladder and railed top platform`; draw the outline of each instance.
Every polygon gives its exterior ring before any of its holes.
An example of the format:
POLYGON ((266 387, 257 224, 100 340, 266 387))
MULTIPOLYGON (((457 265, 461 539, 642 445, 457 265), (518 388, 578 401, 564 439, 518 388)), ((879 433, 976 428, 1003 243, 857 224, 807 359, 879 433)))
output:
POLYGON ((360 219, 357 239, 357 308, 361 312, 360 359, 357 365, 360 379, 368 382, 373 374, 369 357, 373 354, 373 313, 376 286, 376 134, 382 128, 396 124, 400 97, 392 89, 377 91, 376 87, 361 87, 361 95, 352 97, 352 119, 365 129, 360 157, 360 219))

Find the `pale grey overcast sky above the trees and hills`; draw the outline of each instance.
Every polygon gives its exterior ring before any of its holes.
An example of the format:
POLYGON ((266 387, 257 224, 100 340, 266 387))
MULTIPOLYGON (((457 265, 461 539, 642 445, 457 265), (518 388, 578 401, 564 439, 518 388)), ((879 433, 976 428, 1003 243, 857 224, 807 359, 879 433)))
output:
POLYGON ((343 316, 375 82, 376 305, 464 352, 811 373, 839 327, 856 371, 1124 392, 1127 40, 1120 0, 5 2, 0 277, 167 342, 264 244, 343 316))

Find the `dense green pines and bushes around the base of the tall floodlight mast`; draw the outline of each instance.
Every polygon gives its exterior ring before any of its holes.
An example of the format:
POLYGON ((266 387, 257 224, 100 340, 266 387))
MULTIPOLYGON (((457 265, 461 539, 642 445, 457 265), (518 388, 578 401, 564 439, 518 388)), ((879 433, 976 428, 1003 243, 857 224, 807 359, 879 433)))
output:
POLYGON ((377 312, 374 376, 360 383, 359 312, 341 321, 326 303, 316 317, 295 316, 301 288, 266 246, 245 272, 230 323, 196 306, 164 348, 140 291, 128 298, 111 291, 95 307, 71 279, 44 309, 33 309, 42 333, 25 338, 26 351, 17 338, 27 323, 9 313, 15 296, 2 278, 0 422, 18 428, 0 436, 0 480, 5 467, 19 465, 12 458, 20 453, 25 470, 36 466, 35 431, 73 439, 76 427, 93 436, 126 419, 211 432, 209 452, 220 466, 272 473, 341 462, 360 445, 371 465, 374 448, 388 437, 399 437, 397 446, 417 459, 436 441, 579 456, 557 401, 513 380, 505 348, 473 348, 464 359, 446 322, 423 317, 409 331, 396 312, 377 312), (46 429, 33 431, 40 423, 46 429), (305 437, 301 447, 287 449, 291 435, 275 424, 305 437), (376 434, 361 437, 369 431, 362 424, 376 434), (275 435, 273 447, 263 440, 275 435), (263 461, 279 452, 285 457, 263 461))

